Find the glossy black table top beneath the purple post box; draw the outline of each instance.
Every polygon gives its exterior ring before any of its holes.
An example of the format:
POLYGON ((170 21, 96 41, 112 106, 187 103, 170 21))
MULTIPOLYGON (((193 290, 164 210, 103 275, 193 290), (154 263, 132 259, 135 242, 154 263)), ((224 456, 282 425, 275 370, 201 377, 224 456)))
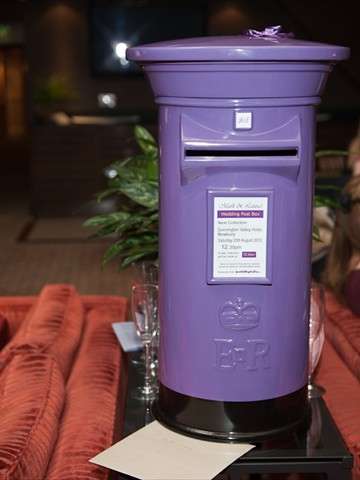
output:
MULTIPOLYGON (((128 354, 129 380, 123 436, 135 432, 153 420, 151 405, 134 398, 134 390, 142 384, 144 375, 141 367, 133 363, 133 360, 138 358, 138 353, 128 354)), ((233 466, 264 462, 337 462, 351 469, 352 456, 325 402, 321 398, 311 400, 311 410, 309 425, 277 439, 256 443, 256 448, 241 457, 233 466)), ((132 477, 116 474, 111 478, 125 480, 132 477)))

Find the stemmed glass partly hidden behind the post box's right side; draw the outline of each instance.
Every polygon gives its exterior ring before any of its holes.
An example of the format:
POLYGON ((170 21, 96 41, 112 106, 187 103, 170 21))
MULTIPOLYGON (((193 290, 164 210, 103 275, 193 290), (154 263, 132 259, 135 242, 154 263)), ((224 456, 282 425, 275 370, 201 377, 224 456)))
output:
POLYGON ((325 392, 322 387, 312 382, 314 371, 320 360, 324 341, 324 288, 322 285, 313 283, 311 286, 309 315, 309 398, 320 397, 325 392))

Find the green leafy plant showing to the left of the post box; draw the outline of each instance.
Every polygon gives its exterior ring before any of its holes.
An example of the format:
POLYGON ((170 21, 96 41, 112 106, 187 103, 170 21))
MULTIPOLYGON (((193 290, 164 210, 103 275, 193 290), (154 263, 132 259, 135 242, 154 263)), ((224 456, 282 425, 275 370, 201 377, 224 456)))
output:
POLYGON ((134 135, 141 153, 110 165, 106 169, 112 172, 107 188, 97 196, 99 202, 116 196, 119 210, 97 215, 84 223, 85 227, 97 228, 98 237, 116 238, 103 256, 103 266, 119 258, 120 268, 125 268, 158 256, 158 148, 144 127, 136 126, 134 135))

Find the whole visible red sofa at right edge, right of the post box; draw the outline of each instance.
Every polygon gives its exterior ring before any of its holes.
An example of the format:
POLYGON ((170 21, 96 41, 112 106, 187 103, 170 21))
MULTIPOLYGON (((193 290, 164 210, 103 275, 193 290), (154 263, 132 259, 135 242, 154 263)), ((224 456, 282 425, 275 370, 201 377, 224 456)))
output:
POLYGON ((354 456, 353 480, 360 480, 360 317, 327 292, 325 346, 316 383, 354 456))

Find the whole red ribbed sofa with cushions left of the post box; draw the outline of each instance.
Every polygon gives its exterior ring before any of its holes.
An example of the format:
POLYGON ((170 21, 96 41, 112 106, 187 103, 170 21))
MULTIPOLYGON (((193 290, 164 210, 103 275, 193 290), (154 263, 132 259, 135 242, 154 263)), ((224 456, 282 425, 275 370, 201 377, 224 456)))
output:
POLYGON ((0 298, 0 479, 106 480, 89 458, 114 441, 126 369, 111 323, 127 302, 70 285, 0 298), (6 325, 4 327, 4 322, 6 325))

